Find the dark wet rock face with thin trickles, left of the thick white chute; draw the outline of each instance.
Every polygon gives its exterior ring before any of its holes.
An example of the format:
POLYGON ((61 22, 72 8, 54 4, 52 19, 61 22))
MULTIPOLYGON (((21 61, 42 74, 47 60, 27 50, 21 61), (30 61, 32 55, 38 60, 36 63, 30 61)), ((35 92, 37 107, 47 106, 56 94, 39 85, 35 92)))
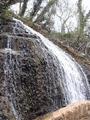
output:
POLYGON ((57 59, 37 39, 15 21, 0 23, 1 120, 12 120, 13 114, 30 120, 64 105, 57 59))

